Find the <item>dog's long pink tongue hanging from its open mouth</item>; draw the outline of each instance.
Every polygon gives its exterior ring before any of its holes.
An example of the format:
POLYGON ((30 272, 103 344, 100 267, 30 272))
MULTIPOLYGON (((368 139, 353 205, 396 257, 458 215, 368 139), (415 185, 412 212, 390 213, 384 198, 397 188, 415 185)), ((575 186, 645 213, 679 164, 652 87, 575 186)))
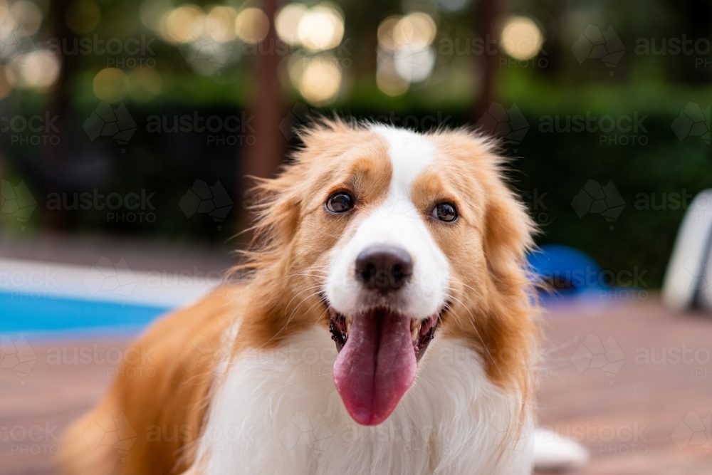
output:
POLYGON ((410 319, 376 310, 354 318, 334 363, 334 382, 351 417, 375 425, 393 412, 416 370, 410 319))

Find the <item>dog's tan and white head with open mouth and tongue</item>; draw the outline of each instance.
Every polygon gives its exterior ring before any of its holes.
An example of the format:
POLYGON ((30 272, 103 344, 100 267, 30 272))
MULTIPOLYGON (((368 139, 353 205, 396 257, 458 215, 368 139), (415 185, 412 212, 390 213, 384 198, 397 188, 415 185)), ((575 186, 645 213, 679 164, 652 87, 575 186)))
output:
POLYGON ((250 265, 270 333, 329 328, 336 389, 360 424, 391 414, 433 338, 466 340, 493 382, 524 390, 533 226, 490 142, 342 122, 303 140, 261 185, 250 265))

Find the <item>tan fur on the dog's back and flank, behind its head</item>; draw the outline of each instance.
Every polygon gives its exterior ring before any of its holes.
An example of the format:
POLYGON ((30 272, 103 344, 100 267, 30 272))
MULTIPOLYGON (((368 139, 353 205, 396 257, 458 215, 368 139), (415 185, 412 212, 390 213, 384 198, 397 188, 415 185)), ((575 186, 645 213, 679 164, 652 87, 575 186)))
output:
POLYGON ((62 458, 66 473, 148 475, 188 468, 193 459, 192 442, 199 435, 221 357, 222 336, 239 311, 244 290, 239 286, 221 288, 197 305, 152 325, 135 345, 145 345, 150 351, 155 375, 147 373, 146 367, 137 367, 140 361, 120 367, 105 399, 65 434, 62 458), (192 351, 189 345, 197 335, 209 342, 214 357, 200 358, 200 353, 192 351), (113 418, 124 414, 137 434, 125 455, 111 445, 90 448, 88 428, 103 412, 113 418), (159 427, 162 440, 149 440, 152 426, 159 427), (164 440, 164 430, 167 438, 174 440, 164 440))

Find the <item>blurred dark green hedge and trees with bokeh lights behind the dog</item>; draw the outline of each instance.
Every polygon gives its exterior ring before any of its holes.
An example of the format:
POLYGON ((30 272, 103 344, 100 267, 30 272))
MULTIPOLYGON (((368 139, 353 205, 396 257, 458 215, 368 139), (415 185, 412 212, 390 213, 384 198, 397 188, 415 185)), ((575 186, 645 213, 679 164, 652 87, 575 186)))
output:
POLYGON ((709 1, 19 0, 0 19, 5 239, 239 245, 244 175, 333 111, 493 132, 540 244, 651 288, 712 182, 709 1), (590 181, 608 214, 575 206, 590 181))

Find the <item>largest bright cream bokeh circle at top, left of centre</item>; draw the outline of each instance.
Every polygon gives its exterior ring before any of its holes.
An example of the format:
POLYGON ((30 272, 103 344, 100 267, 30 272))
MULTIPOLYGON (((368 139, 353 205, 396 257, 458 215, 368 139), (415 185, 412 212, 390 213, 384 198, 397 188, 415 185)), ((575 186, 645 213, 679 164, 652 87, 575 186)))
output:
POLYGON ((304 12, 297 25, 297 38, 308 51, 336 48, 344 37, 344 17, 330 2, 322 2, 304 12))

